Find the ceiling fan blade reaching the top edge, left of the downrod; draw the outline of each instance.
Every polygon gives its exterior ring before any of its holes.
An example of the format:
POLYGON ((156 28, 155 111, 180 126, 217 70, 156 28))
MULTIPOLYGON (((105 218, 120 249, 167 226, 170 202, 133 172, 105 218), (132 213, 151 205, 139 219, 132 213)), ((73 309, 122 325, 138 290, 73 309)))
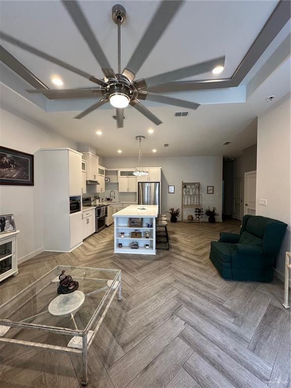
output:
POLYGON ((62 3, 71 16, 80 34, 83 36, 85 42, 88 44, 96 61, 100 64, 104 74, 107 76, 108 71, 113 72, 99 41, 96 39, 85 14, 79 6, 79 3, 75 0, 62 0, 62 3))

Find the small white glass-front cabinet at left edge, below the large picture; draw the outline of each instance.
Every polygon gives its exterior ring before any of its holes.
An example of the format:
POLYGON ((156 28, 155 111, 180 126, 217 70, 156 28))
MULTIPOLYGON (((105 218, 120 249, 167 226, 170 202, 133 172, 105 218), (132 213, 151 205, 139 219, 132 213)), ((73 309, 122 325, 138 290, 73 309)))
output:
POLYGON ((0 233, 0 281, 18 274, 17 235, 19 230, 0 233))

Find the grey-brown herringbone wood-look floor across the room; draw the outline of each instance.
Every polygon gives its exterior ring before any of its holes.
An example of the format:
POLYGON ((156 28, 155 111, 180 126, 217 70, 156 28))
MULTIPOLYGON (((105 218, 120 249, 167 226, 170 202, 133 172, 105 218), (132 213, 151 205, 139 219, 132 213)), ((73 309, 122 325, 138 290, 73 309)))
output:
MULTIPOLYGON (((169 225, 170 251, 113 254, 113 226, 72 253, 44 252, 0 284, 0 304, 58 264, 120 268, 113 302, 89 352, 90 388, 287 388, 290 314, 283 284, 226 281, 209 260, 238 221, 169 225)), ((32 334, 31 334, 32 335, 32 334)), ((79 387, 78 360, 0 347, 1 388, 79 387)))

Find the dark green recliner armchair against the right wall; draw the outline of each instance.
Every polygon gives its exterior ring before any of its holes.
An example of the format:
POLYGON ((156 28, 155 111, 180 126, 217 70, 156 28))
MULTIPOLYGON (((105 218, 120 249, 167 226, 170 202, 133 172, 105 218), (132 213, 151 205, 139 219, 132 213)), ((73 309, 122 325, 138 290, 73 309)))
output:
POLYGON ((287 224, 246 215, 240 233, 220 233, 211 241, 210 260, 224 279, 272 281, 273 266, 287 224))

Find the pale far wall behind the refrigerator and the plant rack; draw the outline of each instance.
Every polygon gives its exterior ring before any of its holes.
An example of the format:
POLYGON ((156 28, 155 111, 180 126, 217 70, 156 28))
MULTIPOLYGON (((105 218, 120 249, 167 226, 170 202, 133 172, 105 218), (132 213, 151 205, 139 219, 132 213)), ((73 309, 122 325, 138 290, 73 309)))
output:
MULTIPOLYGON (((104 158, 107 168, 134 168, 136 162, 137 157, 104 158)), ((201 182, 203 208, 215 206, 219 213, 217 221, 221 221, 222 156, 146 157, 142 158, 142 164, 146 167, 162 167, 162 213, 171 207, 181 208, 182 181, 201 182), (174 194, 168 193, 168 185, 175 185, 174 194), (214 194, 207 194, 207 186, 214 186, 214 194)))

